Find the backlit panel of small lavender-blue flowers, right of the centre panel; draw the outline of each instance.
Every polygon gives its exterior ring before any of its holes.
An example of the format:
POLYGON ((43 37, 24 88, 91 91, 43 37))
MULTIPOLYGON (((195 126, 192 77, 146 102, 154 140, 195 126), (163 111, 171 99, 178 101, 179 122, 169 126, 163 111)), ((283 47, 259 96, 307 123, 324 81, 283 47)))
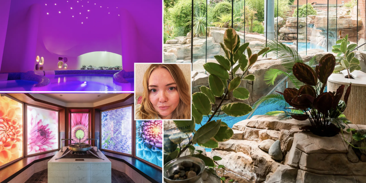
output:
POLYGON ((102 112, 102 149, 132 154, 132 106, 102 112))

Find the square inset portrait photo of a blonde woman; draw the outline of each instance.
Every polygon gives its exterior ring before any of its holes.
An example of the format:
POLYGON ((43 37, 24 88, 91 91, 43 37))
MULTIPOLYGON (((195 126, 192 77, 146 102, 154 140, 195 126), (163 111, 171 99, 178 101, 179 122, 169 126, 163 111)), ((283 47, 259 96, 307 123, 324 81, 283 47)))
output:
POLYGON ((135 63, 135 120, 190 120, 190 77, 190 63, 135 63))

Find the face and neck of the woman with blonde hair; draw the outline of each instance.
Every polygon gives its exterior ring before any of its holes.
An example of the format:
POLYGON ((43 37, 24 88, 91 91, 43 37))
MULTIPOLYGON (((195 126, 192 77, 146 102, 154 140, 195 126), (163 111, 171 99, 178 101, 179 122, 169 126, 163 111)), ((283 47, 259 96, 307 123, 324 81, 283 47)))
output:
POLYGON ((177 85, 165 68, 154 69, 148 81, 150 102, 162 119, 171 119, 172 112, 179 104, 177 85))

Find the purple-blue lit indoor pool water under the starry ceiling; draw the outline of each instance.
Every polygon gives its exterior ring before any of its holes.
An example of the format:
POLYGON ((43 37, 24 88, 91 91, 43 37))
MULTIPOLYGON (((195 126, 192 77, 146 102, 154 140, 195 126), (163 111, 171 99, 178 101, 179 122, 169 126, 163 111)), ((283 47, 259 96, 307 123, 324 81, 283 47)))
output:
POLYGON ((134 78, 126 78, 129 83, 113 81, 113 74, 63 74, 47 75, 50 83, 34 87, 36 81, 0 81, 0 91, 133 91, 134 78))

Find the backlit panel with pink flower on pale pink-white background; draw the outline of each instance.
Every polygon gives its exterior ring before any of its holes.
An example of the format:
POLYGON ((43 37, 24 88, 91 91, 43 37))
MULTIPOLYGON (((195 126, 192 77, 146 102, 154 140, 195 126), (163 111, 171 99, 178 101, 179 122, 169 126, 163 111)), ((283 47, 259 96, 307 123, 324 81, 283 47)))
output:
POLYGON ((58 149, 59 112, 27 106, 27 155, 58 149))

